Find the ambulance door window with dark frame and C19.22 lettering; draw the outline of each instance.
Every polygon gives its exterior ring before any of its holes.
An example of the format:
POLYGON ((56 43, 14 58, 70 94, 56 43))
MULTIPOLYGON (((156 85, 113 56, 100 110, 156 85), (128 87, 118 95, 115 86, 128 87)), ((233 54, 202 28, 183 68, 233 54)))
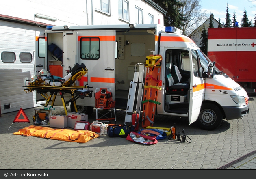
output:
POLYGON ((80 58, 98 60, 100 58, 100 38, 82 37, 80 40, 80 58))

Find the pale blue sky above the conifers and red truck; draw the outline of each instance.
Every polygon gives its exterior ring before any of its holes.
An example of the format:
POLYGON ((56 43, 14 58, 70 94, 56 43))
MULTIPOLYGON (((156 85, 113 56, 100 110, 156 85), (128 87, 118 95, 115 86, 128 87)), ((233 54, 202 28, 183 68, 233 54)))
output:
POLYGON ((213 13, 216 20, 221 20, 221 23, 226 22, 226 6, 228 3, 228 10, 230 13, 230 19, 233 19, 234 11, 236 13, 236 21, 241 23, 243 18, 244 9, 247 11, 247 15, 254 23, 254 17, 256 14, 256 0, 200 0, 202 10, 206 10, 207 14, 213 13), (252 2, 254 1, 254 2, 252 2))

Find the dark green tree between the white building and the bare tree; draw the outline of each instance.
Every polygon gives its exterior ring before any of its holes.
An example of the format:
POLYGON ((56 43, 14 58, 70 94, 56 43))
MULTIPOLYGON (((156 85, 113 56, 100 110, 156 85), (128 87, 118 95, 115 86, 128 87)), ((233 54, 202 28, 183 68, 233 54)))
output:
POLYGON ((164 17, 165 26, 175 26, 182 28, 184 25, 182 21, 186 21, 184 15, 180 13, 180 8, 184 6, 184 3, 178 0, 153 0, 158 6, 167 11, 164 17))

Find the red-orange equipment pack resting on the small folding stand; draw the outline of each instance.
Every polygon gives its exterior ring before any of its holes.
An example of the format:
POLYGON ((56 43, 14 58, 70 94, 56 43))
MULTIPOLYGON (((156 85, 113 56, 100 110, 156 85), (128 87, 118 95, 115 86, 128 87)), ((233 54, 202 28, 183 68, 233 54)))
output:
POLYGON ((112 99, 112 92, 110 88, 97 88, 95 90, 94 97, 95 97, 96 108, 114 108, 115 107, 115 101, 112 99))

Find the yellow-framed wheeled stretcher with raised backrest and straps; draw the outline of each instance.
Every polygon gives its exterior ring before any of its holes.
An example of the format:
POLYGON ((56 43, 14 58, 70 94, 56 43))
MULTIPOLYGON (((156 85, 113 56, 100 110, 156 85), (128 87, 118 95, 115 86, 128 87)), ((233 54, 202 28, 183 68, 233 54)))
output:
POLYGON ((92 97, 92 90, 90 90, 88 84, 85 86, 76 86, 75 82, 78 79, 81 79, 84 75, 87 74, 87 68, 82 63, 79 65, 78 63, 71 69, 70 73, 66 75, 64 78, 55 77, 47 74, 41 74, 37 76, 33 81, 26 80, 24 91, 26 93, 37 91, 42 97, 46 99, 46 106, 52 101, 51 106, 54 106, 54 101, 56 99, 57 94, 59 93, 61 96, 61 100, 65 109, 65 113, 67 115, 67 106, 69 102, 73 102, 75 111, 78 112, 76 106, 76 100, 85 97, 92 97), (48 95, 47 93, 50 93, 48 95), (68 93, 71 95, 71 99, 69 101, 65 101, 64 94, 68 93), (53 99, 52 99, 53 97, 53 99))

